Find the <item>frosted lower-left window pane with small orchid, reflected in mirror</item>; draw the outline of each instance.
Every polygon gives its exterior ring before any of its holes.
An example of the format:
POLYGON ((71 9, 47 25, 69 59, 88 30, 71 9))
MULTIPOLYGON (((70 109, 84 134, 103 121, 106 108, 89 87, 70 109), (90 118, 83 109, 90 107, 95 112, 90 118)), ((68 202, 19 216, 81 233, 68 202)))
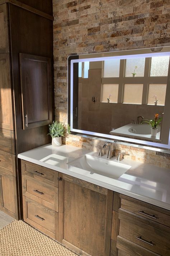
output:
POLYGON ((108 102, 107 98, 109 98, 109 94, 111 94, 110 102, 117 103, 118 102, 118 89, 119 89, 118 84, 103 84, 101 101, 108 102))

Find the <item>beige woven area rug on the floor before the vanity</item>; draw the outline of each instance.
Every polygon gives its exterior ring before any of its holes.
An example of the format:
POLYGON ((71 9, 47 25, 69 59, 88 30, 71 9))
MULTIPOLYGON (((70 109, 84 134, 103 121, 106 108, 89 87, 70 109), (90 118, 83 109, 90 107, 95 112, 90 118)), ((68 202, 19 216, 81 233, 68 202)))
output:
POLYGON ((0 256, 77 256, 22 220, 0 230, 0 256))

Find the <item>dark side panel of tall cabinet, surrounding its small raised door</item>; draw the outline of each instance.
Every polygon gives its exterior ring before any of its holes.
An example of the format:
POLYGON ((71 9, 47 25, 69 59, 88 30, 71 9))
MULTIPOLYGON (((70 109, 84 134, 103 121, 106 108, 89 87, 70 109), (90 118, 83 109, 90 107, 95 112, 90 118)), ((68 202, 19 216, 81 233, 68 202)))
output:
MULTIPOLYGON (((21 153, 41 145, 51 143, 51 138, 46 136, 48 133, 48 125, 23 130, 22 99, 19 72, 20 66, 18 58, 19 53, 45 56, 52 59, 53 32, 51 20, 34 14, 23 8, 19 8, 14 4, 9 4, 9 15, 12 49, 11 66, 13 69, 14 96, 15 99, 17 99, 15 101, 15 122, 17 138, 16 150, 17 153, 21 153)), ((51 77, 53 80, 53 70, 51 70, 51 72, 51 77)), ((51 92, 50 101, 53 102, 53 89, 51 92)))

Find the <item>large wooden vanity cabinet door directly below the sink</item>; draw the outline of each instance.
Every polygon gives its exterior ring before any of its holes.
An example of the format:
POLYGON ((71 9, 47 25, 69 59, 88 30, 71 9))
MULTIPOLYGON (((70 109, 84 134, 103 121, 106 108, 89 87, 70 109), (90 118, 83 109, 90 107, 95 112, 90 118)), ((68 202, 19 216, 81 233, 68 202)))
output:
POLYGON ((84 256, 108 256, 113 192, 62 174, 59 187, 59 242, 84 256))

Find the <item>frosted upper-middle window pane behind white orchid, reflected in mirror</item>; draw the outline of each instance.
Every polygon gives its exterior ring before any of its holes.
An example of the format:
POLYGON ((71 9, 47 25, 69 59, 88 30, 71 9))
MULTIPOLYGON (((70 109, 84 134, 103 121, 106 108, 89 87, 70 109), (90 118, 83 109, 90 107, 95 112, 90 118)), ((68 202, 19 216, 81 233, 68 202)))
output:
POLYGON ((126 77, 133 77, 132 73, 136 73, 135 77, 144 76, 144 70, 145 70, 145 58, 126 59, 126 66, 125 66, 126 77))

